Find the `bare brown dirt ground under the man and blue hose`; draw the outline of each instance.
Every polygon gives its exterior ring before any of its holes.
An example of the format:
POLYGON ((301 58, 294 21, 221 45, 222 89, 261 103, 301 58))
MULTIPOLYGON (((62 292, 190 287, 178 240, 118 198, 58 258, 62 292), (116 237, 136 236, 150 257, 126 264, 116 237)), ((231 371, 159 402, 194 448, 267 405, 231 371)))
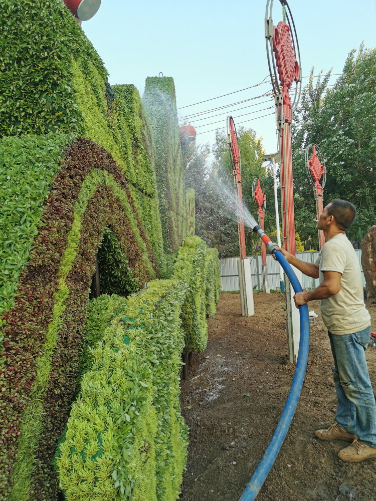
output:
MULTIPOLYGON (((181 501, 236 501, 273 434, 290 389, 294 367, 287 360, 284 295, 255 294, 255 315, 242 317, 239 294, 221 294, 217 315, 208 320, 209 343, 194 355, 189 380, 181 382, 181 404, 190 428, 187 471, 181 501)), ((367 304, 376 331, 376 305, 367 304)), ((334 422, 333 359, 319 302, 311 327, 307 373, 295 416, 258 501, 349 499, 376 501, 376 460, 349 464, 337 457, 348 445, 320 441, 315 430, 334 422)), ((376 348, 366 351, 376 384, 376 348)))

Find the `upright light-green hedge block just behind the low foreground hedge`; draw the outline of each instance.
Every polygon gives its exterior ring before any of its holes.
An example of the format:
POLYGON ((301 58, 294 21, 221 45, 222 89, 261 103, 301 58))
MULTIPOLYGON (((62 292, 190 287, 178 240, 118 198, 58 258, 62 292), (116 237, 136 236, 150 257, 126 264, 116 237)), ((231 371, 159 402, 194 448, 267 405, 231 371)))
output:
POLYGON ((183 280, 188 287, 181 308, 182 328, 185 332, 185 353, 201 353, 208 343, 206 264, 206 243, 198 236, 185 238, 174 265, 174 276, 183 280))

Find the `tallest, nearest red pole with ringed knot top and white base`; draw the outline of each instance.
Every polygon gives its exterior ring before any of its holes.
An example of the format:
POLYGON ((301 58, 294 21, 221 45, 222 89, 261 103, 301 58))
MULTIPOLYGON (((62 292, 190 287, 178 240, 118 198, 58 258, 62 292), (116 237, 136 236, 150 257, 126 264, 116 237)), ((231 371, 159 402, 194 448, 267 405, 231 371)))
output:
MULTIPOLYGON (((279 138, 282 245, 287 252, 295 256, 291 123, 293 120, 293 111, 298 106, 300 99, 301 65, 299 45, 290 8, 286 0, 279 0, 279 2, 282 6, 283 20, 277 26, 274 26, 272 19, 274 0, 267 0, 265 39, 276 106, 276 124, 279 138), (289 93, 294 83, 295 93, 291 101, 289 93)), ((300 273, 297 273, 297 276, 301 278, 300 273)), ((286 275, 284 284, 289 360, 291 363, 296 364, 300 338, 299 312, 295 308, 293 301, 294 292, 286 275)))

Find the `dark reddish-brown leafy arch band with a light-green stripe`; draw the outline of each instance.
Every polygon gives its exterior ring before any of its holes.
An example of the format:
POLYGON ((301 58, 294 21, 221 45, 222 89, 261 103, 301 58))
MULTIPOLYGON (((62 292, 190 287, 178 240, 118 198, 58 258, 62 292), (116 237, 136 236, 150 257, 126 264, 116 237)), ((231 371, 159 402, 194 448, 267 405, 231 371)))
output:
POLYGON ((23 499, 27 492, 34 499, 55 496, 52 459, 76 389, 89 283, 104 229, 111 228, 131 257, 137 288, 155 277, 156 262, 132 202, 120 167, 103 148, 79 138, 66 149, 28 266, 20 268, 15 304, 3 313, 3 499, 23 499))

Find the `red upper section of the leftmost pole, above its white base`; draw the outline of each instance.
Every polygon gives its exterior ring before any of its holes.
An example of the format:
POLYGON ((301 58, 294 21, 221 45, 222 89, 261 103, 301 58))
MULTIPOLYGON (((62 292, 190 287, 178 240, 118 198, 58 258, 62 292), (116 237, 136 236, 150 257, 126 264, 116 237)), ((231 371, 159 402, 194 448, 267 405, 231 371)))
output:
POLYGON ((239 247, 240 257, 245 259, 246 254, 246 238, 244 233, 244 219, 243 219, 243 195, 242 195, 242 177, 241 177, 241 158, 238 145, 238 135, 233 117, 227 117, 227 140, 230 149, 230 158, 233 165, 235 192, 238 202, 238 233, 239 233, 239 247))

